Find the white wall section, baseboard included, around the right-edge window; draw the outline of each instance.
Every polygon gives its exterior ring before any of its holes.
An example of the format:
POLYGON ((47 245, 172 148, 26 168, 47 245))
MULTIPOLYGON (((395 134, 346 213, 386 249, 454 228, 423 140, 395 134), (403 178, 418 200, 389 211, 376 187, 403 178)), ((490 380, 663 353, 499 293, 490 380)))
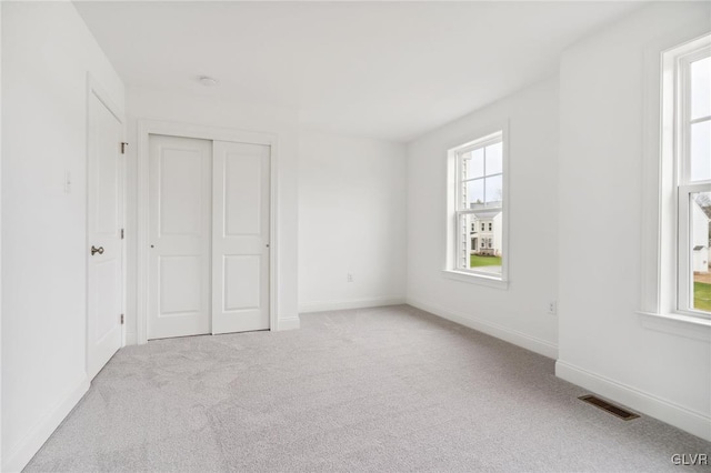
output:
POLYGON ((659 58, 659 38, 711 30, 710 19, 708 2, 657 3, 564 52, 558 194, 557 373, 707 440, 709 330, 694 336, 693 326, 649 324, 635 311, 640 244, 648 238, 641 233, 643 162, 655 167, 659 159, 644 152, 653 133, 643 123, 653 103, 645 81, 652 74, 658 82, 660 69, 647 69, 644 58, 659 58))

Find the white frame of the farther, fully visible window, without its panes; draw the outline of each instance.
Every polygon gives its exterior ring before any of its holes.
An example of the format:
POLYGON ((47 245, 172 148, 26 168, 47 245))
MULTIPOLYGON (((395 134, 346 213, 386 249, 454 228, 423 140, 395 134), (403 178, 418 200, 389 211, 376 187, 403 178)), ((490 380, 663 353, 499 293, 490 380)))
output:
MULTIPOLYGON (((509 209, 510 209, 510 192, 509 192, 509 125, 508 121, 502 123, 492 124, 488 128, 479 130, 477 133, 472 133, 470 137, 477 137, 475 139, 462 139, 459 142, 453 142, 447 152, 447 241, 444 244, 444 269, 442 275, 448 279, 457 281, 485 285, 495 289, 508 289, 509 285, 509 209), (463 213, 474 213, 473 211, 461 210, 459 207, 459 195, 461 183, 459 172, 460 167, 459 155, 482 148, 482 145, 492 144, 501 141, 502 144, 502 238, 501 238, 501 253, 503 255, 501 261, 501 274, 492 274, 484 271, 477 271, 472 269, 459 268, 458 250, 461 248, 461 235, 458 225, 459 215, 463 213)), ((480 239, 480 244, 483 243, 483 239, 480 239)), ((485 248, 485 246, 483 246, 485 248)))

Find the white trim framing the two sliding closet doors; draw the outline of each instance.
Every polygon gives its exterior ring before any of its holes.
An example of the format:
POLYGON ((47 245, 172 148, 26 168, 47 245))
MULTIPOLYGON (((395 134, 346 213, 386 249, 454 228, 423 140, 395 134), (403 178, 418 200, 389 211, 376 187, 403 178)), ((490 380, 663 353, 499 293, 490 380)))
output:
POLYGON ((138 121, 138 311, 137 333, 138 344, 148 342, 148 268, 149 268, 149 135, 163 134, 168 137, 197 138, 212 141, 232 141, 237 143, 264 144, 271 148, 270 171, 270 262, 269 262, 269 330, 279 330, 277 325, 277 294, 279 293, 277 240, 279 140, 276 133, 233 130, 219 127, 176 123, 160 120, 138 121))

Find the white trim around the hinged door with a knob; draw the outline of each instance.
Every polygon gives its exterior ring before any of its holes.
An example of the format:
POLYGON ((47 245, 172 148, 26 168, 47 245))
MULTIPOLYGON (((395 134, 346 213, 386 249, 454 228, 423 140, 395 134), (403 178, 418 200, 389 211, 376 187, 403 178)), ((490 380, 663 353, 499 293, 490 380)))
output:
MULTIPOLYGON (((109 93, 107 92, 107 90, 99 83, 99 81, 97 81, 93 76, 91 76, 91 73, 87 72, 87 155, 86 155, 86 164, 87 164, 87 169, 89 169, 89 150, 90 150, 90 145, 89 145, 89 140, 91 139, 91 137, 89 137, 89 127, 91 125, 89 123, 90 120, 90 111, 89 108, 91 107, 91 95, 94 95, 97 99, 99 99, 99 101, 101 103, 103 103, 103 105, 107 108, 107 110, 109 110, 109 112, 111 112, 111 114, 113 117, 116 117, 116 119, 119 121, 119 123, 121 123, 121 137, 123 140, 126 140, 126 119, 123 117, 123 110, 121 108, 119 108, 119 105, 113 102, 113 100, 111 99, 111 97, 109 95, 109 93)), ((118 143, 117 143, 118 144, 118 143)), ((120 169, 121 169, 121 227, 126 228, 126 154, 122 154, 123 159, 121 160, 121 163, 119 164, 120 169)), ((91 177, 89 175, 89 173, 87 172, 87 177, 86 177, 86 183, 84 185, 87 187, 87 197, 86 197, 86 218, 87 218, 87 231, 84 234, 84 249, 89 249, 91 246, 91 243, 89 242, 89 179, 91 179, 91 177)), ((88 373, 89 372, 89 252, 84 251, 84 268, 87 271, 87 281, 86 281, 86 298, 84 298, 84 302, 86 302, 86 354, 84 354, 84 371, 88 373)), ((127 306, 127 291, 126 291, 126 286, 127 286, 127 281, 126 281, 126 274, 127 274, 127 258, 126 258, 126 239, 121 240, 121 313, 126 314, 126 306, 127 306)), ((124 315, 126 318, 126 315, 124 315)), ((124 319, 126 320, 126 319, 124 319)), ((126 323, 121 325, 121 346, 126 346, 126 323)))

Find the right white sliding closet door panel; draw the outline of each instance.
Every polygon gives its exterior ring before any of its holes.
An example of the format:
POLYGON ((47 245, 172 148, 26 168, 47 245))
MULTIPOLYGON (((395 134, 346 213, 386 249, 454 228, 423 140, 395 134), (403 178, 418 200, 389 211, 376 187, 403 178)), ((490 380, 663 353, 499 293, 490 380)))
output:
POLYGON ((269 329, 270 147, 216 141, 212 333, 269 329))

